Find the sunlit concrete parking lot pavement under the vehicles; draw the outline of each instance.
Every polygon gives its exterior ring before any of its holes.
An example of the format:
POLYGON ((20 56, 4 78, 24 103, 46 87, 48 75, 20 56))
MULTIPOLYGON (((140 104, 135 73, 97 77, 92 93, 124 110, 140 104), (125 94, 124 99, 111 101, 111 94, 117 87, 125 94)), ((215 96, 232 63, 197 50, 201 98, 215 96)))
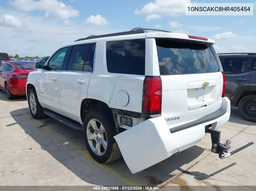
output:
POLYGON ((210 152, 211 138, 207 135, 200 144, 132 174, 122 158, 98 164, 86 150, 81 132, 51 118, 33 119, 26 97, 8 100, 0 91, 0 185, 252 188, 256 183, 256 123, 242 120, 235 108, 231 112, 229 122, 221 127, 221 142, 230 139, 230 150, 248 142, 254 145, 221 160, 210 152))

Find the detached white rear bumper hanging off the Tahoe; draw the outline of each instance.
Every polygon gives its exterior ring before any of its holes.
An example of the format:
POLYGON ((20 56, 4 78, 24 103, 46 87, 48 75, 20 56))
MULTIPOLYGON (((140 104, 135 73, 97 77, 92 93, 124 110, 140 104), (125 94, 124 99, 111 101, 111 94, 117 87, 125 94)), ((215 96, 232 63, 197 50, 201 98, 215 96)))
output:
POLYGON ((230 117, 228 98, 222 98, 220 109, 219 112, 222 113, 219 116, 217 112, 212 118, 208 117, 207 121, 205 116, 201 118, 202 123, 198 119, 196 123, 191 122, 190 126, 183 125, 182 128, 169 129, 161 116, 147 119, 114 138, 127 166, 134 174, 201 142, 206 134, 205 126, 211 125, 211 129, 218 129, 224 125, 230 117))

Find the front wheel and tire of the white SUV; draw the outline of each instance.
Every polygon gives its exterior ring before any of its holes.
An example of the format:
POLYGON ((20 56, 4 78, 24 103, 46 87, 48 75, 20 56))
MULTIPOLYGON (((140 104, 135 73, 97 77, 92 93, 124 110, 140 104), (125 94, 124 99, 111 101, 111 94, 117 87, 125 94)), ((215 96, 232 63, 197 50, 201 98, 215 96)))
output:
POLYGON ((45 117, 43 107, 38 101, 38 97, 34 88, 31 88, 28 92, 28 107, 34 119, 41 119, 45 117))

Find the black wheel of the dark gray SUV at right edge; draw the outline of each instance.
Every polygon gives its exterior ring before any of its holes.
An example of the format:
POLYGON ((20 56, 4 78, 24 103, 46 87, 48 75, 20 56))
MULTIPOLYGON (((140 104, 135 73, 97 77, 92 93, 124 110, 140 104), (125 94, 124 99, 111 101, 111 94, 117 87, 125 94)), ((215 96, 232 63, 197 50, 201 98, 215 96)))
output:
POLYGON ((238 103, 238 113, 250 122, 256 122, 256 96, 248 95, 243 97, 238 103))

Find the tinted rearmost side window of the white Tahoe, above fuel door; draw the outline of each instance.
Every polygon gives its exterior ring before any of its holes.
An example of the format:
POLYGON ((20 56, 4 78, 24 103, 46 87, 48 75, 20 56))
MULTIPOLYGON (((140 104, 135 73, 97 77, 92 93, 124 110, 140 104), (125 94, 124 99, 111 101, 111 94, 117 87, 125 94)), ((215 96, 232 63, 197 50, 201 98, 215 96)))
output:
POLYGON ((109 73, 145 75, 145 39, 108 41, 109 73))

